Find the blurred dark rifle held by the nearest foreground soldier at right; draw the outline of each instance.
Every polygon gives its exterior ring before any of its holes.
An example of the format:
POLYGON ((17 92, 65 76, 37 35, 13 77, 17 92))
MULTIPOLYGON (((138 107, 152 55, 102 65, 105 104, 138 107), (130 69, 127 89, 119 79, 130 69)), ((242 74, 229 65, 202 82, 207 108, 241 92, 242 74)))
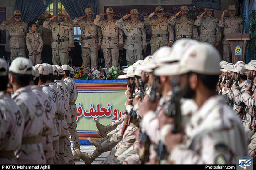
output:
MULTIPOLYGON (((181 132, 181 105, 180 99, 182 96, 181 87, 177 85, 176 77, 172 80, 172 95, 165 108, 165 114, 168 117, 174 117, 174 125, 172 133, 181 132)), ((159 142, 157 151, 157 161, 163 160, 167 155, 167 149, 162 141, 159 142)))

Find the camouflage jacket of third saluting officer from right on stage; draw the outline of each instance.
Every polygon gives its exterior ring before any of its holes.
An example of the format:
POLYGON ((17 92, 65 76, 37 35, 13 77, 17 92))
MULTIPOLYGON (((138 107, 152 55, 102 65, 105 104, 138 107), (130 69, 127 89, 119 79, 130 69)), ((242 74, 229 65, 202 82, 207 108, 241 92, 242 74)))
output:
POLYGON ((194 40, 199 40, 197 27, 194 25, 194 20, 192 20, 191 18, 181 20, 181 18, 175 18, 174 16, 171 16, 171 18, 168 20, 168 23, 174 26, 174 40, 179 40, 181 38, 192 38, 194 40))

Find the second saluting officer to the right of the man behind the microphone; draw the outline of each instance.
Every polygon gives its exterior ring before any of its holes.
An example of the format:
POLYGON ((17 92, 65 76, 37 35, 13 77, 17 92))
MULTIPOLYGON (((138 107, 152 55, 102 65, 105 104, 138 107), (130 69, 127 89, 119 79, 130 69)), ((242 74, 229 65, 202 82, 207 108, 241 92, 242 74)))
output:
POLYGON ((116 20, 113 19, 113 14, 113 9, 107 8, 106 13, 100 13, 93 21, 102 31, 101 48, 103 49, 106 68, 112 66, 119 68, 119 48, 123 47, 123 31, 115 25, 116 20), (107 15, 107 20, 100 20, 101 15, 107 15))

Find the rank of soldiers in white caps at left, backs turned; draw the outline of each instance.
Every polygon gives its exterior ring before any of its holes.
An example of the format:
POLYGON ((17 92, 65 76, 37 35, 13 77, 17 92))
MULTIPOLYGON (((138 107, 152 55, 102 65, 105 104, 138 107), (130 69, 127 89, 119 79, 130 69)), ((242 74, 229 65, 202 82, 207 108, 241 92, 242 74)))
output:
POLYGON ((0 59, 0 164, 74 164, 71 147, 80 141, 73 74, 69 65, 33 66, 16 57, 8 67, 0 59))

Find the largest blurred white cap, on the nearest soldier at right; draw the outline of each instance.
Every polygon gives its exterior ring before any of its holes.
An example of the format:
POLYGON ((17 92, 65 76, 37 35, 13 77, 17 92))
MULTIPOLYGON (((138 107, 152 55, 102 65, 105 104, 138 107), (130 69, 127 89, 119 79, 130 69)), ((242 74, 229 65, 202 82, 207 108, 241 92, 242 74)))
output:
POLYGON ((208 43, 195 43, 187 47, 179 62, 166 64, 154 70, 156 76, 181 75, 195 72, 203 75, 220 75, 219 51, 208 43))

